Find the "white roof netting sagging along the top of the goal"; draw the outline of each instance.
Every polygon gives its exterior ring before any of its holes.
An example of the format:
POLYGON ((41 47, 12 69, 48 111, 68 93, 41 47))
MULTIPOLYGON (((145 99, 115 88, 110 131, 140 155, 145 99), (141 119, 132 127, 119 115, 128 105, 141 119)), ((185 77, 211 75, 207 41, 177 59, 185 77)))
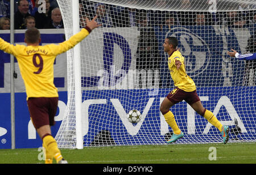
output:
MULTIPOLYGON (((84 3, 85 1, 81 1, 84 3)), ((233 11, 239 7, 255 6, 255 1, 232 1, 232 0, 103 0, 92 1, 108 5, 139 8, 145 10, 166 10, 166 11, 233 11)), ((85 4, 85 3, 84 3, 85 4)))

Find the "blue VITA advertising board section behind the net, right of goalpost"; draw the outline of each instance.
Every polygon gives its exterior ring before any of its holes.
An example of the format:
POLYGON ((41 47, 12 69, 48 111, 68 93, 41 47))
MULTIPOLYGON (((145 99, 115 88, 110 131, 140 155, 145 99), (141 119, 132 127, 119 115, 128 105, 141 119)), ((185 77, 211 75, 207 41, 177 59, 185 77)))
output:
MULTIPOLYGON (((88 121, 84 122, 87 125, 83 126, 85 145, 89 146, 95 136, 104 130, 111 133, 117 144, 148 144, 148 140, 154 140, 152 142, 155 144, 163 144, 164 134, 171 131, 171 128, 166 122, 161 122, 164 118, 159 108, 163 98, 170 91, 172 89, 162 88, 154 94, 148 89, 84 92, 89 99, 82 103, 82 106, 88 109, 83 111, 84 116, 82 116, 83 121, 88 121), (131 109, 137 109, 142 114, 141 122, 136 125, 132 125, 126 118, 126 114, 131 109)), ((254 105, 256 99, 253 96, 255 92, 255 87, 197 88, 202 104, 213 112, 222 125, 229 125, 232 128, 232 125, 235 125, 234 121, 238 122, 237 126, 240 127, 242 134, 230 134, 230 139, 237 139, 236 137, 255 139, 256 121, 253 117, 256 116, 254 105), (241 91, 248 93, 241 95, 241 91), (247 103, 241 108, 241 101, 244 100, 247 103)), ((215 139, 216 142, 217 140, 221 142, 222 138, 216 127, 196 114, 185 101, 176 104, 171 110, 177 125, 184 132, 184 139, 189 138, 191 142, 207 142, 209 139, 215 139)))

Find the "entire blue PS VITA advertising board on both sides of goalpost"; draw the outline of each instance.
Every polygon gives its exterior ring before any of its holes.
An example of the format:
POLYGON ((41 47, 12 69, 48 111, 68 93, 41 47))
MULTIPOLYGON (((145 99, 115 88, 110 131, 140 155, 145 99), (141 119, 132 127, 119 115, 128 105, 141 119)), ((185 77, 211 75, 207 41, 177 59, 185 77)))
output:
MULTIPOLYGON (((159 107, 162 99, 166 97, 172 89, 159 89, 158 93, 152 95, 152 91, 147 89, 133 90, 112 90, 87 91, 82 106, 88 106, 88 111, 83 111, 82 120, 88 120, 88 125, 83 126, 84 144, 89 146, 95 136, 102 130, 111 133, 115 143, 120 144, 147 144, 148 139, 155 140, 155 144, 164 143, 164 134, 171 131, 171 128, 162 122, 162 114, 159 107), (139 98, 142 96, 143 98, 139 98), (98 98, 95 99, 95 96, 98 98), (92 98, 94 97, 94 100, 92 98), (129 101, 129 105, 127 105, 129 101), (142 113, 141 122, 132 125, 126 118, 126 114, 131 109, 138 109, 142 113), (87 118, 86 118, 87 117, 87 118), (166 129, 167 127, 167 129, 166 129), (126 139, 121 139, 121 138, 126 139)), ((256 137, 256 122, 254 117, 256 99, 255 87, 216 87, 197 88, 202 104, 211 110, 222 124, 234 125, 234 119, 238 121, 242 133, 230 135, 230 139, 236 137, 250 140, 256 137), (206 91, 207 90, 207 91, 206 91), (246 91, 247 95, 241 96, 239 92, 246 91), (234 95, 234 93, 236 95, 234 95), (239 100, 237 100, 239 99, 239 100), (241 101, 247 101, 246 105, 241 105, 241 101), (241 108, 242 106, 242 108, 241 108), (254 116, 254 117, 253 117, 254 116)), ((56 125, 52 127, 52 135, 55 136, 59 130, 65 104, 67 103, 67 92, 59 92, 59 108, 56 113, 56 125)), ((11 125, 10 125, 10 94, 1 93, 0 105, 0 148, 11 148, 11 125)), ((42 145, 38 134, 32 126, 26 103, 25 93, 15 95, 15 140, 16 148, 38 148, 42 145)), ((184 139, 189 138, 191 142, 207 142, 209 138, 220 141, 218 130, 210 125, 206 119, 196 114, 189 108, 189 105, 182 101, 172 108, 177 124, 184 132, 184 139), (183 118, 184 116, 187 116, 183 118)), ((86 122, 85 122, 86 123, 86 122)))

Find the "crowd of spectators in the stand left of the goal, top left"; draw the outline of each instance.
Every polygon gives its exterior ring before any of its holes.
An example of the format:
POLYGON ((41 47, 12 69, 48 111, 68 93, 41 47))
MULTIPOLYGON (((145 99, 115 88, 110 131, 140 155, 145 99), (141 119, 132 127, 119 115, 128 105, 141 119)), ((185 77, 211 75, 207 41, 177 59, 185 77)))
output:
MULTIPOLYGON (((14 0, 14 29, 64 28, 56 0, 14 0)), ((0 29, 10 29, 10 0, 0 0, 0 29)))

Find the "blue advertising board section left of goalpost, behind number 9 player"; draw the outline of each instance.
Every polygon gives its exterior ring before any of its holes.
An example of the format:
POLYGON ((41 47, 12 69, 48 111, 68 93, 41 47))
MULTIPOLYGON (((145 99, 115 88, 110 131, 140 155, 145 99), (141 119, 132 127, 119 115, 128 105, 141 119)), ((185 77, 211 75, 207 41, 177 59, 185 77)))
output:
MULTIPOLYGON (((11 148, 11 103, 10 93, 0 93, 0 149, 11 148)), ((55 116, 56 125, 52 126, 52 135, 59 130, 67 92, 59 92, 59 108, 55 116)), ((26 93, 15 93, 15 148, 38 148, 42 147, 42 140, 36 133, 30 120, 27 108, 26 93)))

